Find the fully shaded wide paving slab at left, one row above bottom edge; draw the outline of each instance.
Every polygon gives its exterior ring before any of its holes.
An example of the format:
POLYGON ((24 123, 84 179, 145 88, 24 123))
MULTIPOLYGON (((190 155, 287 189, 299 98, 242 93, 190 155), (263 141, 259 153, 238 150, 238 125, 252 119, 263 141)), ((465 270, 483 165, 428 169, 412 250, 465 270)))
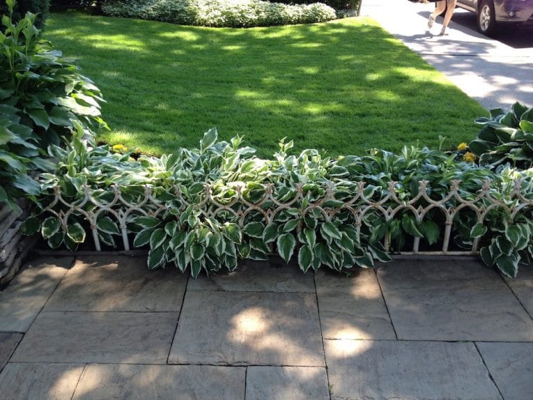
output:
POLYGON ((177 322, 177 313, 43 311, 12 361, 164 364, 177 322))

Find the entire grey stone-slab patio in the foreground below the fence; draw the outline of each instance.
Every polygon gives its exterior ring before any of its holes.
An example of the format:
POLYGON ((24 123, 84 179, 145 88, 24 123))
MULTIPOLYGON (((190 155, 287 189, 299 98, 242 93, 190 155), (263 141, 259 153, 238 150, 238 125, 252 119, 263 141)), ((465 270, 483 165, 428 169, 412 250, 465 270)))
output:
POLYGON ((0 293, 0 397, 504 399, 533 393, 533 269, 269 263, 197 280, 145 258, 40 258, 0 293))

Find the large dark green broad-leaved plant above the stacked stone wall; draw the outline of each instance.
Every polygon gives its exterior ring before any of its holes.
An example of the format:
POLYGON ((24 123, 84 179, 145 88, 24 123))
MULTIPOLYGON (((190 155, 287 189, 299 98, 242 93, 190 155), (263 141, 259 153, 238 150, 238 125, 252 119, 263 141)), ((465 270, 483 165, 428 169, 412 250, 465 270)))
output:
MULTIPOLYGON (((7 4, 12 10, 12 0, 7 4)), ((4 15, 0 33, 0 203, 13 208, 14 199, 40 193, 31 174, 53 169, 50 144, 105 124, 99 89, 40 39, 34 21, 29 13, 19 22, 4 15)))

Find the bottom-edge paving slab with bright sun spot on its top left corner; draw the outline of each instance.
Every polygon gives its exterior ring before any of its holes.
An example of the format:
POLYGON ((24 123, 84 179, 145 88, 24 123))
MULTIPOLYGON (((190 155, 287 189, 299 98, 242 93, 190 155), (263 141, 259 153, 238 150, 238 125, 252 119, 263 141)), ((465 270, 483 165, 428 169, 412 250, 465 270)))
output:
POLYGON ((325 340, 324 346, 332 400, 501 400, 473 343, 325 340))

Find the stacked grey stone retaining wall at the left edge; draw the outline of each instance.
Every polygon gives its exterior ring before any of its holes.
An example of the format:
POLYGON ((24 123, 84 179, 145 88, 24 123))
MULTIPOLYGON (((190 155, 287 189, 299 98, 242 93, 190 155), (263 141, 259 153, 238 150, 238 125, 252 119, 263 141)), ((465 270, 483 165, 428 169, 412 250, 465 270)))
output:
POLYGON ((7 205, 0 207, 0 286, 17 274, 35 244, 35 238, 27 238, 19 232, 27 206, 19 202, 19 207, 18 212, 7 205))

